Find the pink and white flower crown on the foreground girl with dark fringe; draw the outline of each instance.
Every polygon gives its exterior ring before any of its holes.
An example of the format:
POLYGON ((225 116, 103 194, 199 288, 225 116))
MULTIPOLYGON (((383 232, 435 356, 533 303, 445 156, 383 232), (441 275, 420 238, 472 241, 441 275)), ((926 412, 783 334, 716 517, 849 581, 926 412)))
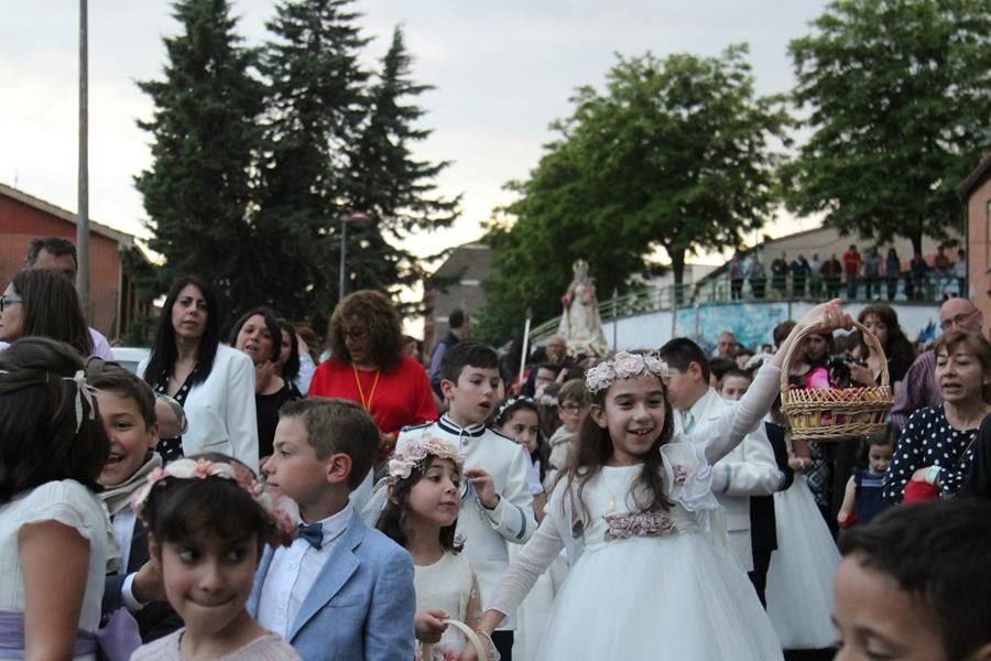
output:
POLYGON ((176 479, 207 479, 209 477, 229 479, 244 489, 272 519, 280 543, 286 545, 292 543, 292 539, 297 533, 298 521, 294 520, 293 508, 284 507, 285 503, 282 502, 284 497, 280 497, 276 502, 276 498, 272 497, 263 483, 255 479, 251 469, 241 464, 210 462, 205 458, 176 459, 149 473, 144 485, 131 496, 131 509, 138 513, 139 518, 142 518, 144 513, 144 507, 152 490, 163 487, 164 480, 170 477, 176 479))

